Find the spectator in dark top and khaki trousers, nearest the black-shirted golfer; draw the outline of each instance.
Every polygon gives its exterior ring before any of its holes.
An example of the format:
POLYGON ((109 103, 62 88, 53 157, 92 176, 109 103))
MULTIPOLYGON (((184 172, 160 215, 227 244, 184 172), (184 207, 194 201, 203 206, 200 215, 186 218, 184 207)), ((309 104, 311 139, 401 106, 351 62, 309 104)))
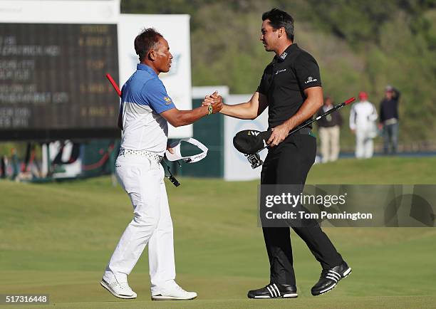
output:
MULTIPOLYGON (((328 112, 333 108, 333 100, 330 97, 324 99, 324 105, 318 110, 318 115, 328 112)), ((342 125, 342 117, 339 112, 332 112, 330 115, 318 120, 319 137, 321 138, 322 162, 333 162, 339 155, 339 132, 342 125)))

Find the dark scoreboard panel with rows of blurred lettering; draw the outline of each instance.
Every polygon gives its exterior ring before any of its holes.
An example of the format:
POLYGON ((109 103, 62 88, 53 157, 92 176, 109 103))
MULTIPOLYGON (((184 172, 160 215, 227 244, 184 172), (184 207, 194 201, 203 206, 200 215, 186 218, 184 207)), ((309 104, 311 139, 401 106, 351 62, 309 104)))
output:
POLYGON ((117 25, 0 23, 0 140, 119 137, 117 25))

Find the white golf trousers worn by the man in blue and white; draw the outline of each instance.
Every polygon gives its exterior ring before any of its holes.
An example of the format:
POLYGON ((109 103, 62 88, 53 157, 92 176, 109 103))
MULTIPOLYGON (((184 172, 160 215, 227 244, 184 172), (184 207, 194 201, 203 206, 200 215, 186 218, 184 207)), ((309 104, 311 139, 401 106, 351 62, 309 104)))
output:
POLYGON ((119 156, 115 170, 133 205, 133 220, 125 229, 106 267, 106 281, 127 282, 148 243, 152 295, 175 283, 172 220, 162 165, 147 157, 119 156))

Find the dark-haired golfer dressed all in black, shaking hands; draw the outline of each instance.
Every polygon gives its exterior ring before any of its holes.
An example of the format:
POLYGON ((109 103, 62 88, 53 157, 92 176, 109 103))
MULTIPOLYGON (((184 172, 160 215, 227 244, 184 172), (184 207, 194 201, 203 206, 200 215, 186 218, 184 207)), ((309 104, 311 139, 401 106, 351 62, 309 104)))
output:
MULTIPOLYGON (((310 128, 288 133, 311 117, 323 105, 323 90, 318 64, 294 43, 294 19, 284 11, 272 9, 263 14, 261 41, 266 51, 274 51, 259 88, 247 103, 224 105, 224 115, 254 119, 269 107, 267 144, 269 152, 261 172, 261 184, 304 184, 316 155, 316 137, 310 128)), ((326 293, 351 273, 316 221, 305 227, 292 227, 321 263, 323 271, 313 286, 313 295, 326 293)), ((263 227, 271 278, 264 288, 250 290, 249 298, 296 297, 289 227, 263 227)))

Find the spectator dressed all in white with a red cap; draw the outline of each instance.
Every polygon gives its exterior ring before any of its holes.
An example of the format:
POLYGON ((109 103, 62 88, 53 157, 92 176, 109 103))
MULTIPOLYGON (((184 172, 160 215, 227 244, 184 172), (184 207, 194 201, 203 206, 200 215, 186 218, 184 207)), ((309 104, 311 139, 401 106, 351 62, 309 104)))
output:
POLYGON ((373 157, 373 138, 377 135, 377 110, 373 103, 368 101, 368 94, 359 93, 359 101, 351 108, 350 129, 355 134, 355 157, 373 157))

